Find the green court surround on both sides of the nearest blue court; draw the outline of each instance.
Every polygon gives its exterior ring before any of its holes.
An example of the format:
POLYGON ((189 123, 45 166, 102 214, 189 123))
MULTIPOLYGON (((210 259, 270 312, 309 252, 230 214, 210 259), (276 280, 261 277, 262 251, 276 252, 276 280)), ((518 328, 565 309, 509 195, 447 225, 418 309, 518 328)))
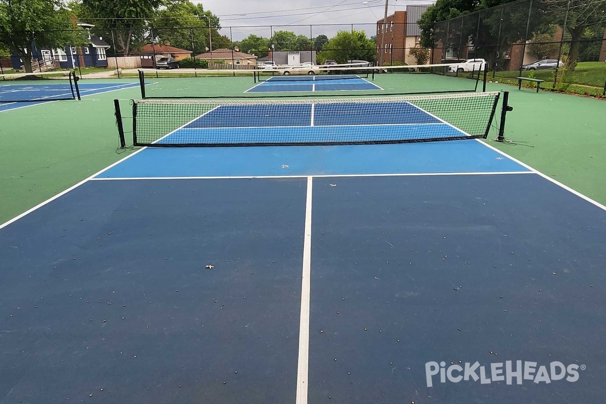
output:
MULTIPOLYGON (((510 91, 514 108, 505 133, 511 142, 490 141, 495 130, 487 142, 605 204, 606 102, 487 84, 499 90, 510 91)), ((132 153, 118 148, 112 100, 140 97, 138 88, 125 88, 0 112, 0 223, 132 153)))

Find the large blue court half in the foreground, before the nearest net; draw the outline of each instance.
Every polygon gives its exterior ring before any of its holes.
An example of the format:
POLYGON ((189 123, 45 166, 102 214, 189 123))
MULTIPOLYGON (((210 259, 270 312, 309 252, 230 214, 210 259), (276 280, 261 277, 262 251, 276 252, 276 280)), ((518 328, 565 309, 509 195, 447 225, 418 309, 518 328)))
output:
POLYGON ((479 141, 143 148, 0 226, 0 403, 602 403, 605 243, 479 141))

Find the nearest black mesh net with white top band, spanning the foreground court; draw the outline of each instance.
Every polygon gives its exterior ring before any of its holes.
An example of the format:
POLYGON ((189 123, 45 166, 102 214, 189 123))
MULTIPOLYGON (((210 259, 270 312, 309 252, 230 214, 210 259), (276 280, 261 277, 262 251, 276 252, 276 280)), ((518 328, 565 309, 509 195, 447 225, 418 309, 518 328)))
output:
MULTIPOLYGON (((474 139, 487 136, 498 100, 499 93, 271 101, 133 100, 133 144, 208 147, 474 139)), ((124 141, 119 109, 116 116, 124 141)))

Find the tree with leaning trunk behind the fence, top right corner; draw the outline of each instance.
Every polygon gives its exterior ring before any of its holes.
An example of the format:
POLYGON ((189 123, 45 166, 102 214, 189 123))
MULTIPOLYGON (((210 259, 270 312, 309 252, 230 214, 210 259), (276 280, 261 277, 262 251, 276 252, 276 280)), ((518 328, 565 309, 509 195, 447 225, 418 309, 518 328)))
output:
POLYGON ((544 3, 550 11, 560 16, 561 21, 564 21, 562 16, 565 16, 566 30, 571 36, 567 68, 568 71, 574 71, 581 41, 587 30, 600 27, 604 32, 606 0, 544 0, 544 3))

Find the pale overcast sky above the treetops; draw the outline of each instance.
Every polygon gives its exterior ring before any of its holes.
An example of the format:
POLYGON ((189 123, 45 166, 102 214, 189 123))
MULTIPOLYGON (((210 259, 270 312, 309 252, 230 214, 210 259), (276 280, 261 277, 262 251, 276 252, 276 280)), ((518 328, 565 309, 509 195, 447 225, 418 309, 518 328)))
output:
MULTIPOLYGON (((316 36, 335 35, 339 29, 364 29, 375 35, 375 22, 385 12, 385 0, 192 0, 202 3, 205 10, 219 16, 221 33, 239 40, 255 34, 269 37, 270 28, 287 29, 297 34, 316 36), (363 4, 367 2, 367 4, 363 4), (338 25, 342 24, 342 25, 338 25), (307 25, 288 27, 284 25, 307 25), (309 25, 313 25, 311 28, 309 25)), ((407 4, 431 4, 433 0, 389 0, 389 14, 406 10, 407 4)))

